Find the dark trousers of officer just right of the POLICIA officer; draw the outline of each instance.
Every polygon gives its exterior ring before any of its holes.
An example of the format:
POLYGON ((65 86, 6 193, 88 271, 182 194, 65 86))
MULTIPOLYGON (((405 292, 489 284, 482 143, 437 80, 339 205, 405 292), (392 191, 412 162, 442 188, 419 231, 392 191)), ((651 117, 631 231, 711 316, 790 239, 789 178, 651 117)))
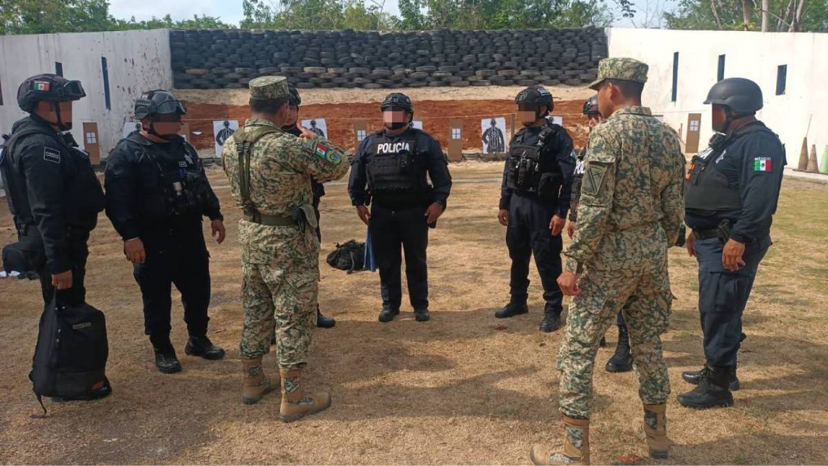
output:
POLYGON ((552 236, 549 222, 554 208, 537 197, 512 195, 509 201, 509 224, 506 245, 512 259, 509 287, 513 298, 522 299, 529 289, 529 260, 535 255, 537 272, 541 275, 543 299, 557 313, 561 313, 564 295, 558 288, 561 276, 561 235, 552 236))

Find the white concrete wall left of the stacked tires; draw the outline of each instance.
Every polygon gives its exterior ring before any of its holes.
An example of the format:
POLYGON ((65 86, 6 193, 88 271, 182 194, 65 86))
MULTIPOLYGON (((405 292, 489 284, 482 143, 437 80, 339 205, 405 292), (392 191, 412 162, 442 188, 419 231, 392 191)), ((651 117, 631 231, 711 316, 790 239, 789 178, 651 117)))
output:
POLYGON ((172 87, 166 29, 0 36, 0 132, 11 132, 12 124, 25 116, 17 107, 20 83, 31 75, 54 73, 55 61, 63 64, 65 78, 80 80, 86 90, 73 108, 72 133, 83 147, 82 123, 96 122, 102 159, 121 138, 137 97, 145 90, 172 87), (103 98, 102 56, 108 66, 109 110, 103 98))

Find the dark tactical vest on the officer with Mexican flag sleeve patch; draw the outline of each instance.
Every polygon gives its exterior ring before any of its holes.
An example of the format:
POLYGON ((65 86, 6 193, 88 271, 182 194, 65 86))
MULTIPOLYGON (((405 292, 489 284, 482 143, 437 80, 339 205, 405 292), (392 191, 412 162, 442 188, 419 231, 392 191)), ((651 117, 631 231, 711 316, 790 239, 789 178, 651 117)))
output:
POLYGON ((684 203, 687 209, 702 211, 738 211, 742 208, 739 187, 730 187, 727 175, 716 168, 715 160, 722 157, 727 148, 745 134, 767 131, 763 124, 748 124, 734 133, 715 134, 710 147, 696 154, 685 176, 684 203))

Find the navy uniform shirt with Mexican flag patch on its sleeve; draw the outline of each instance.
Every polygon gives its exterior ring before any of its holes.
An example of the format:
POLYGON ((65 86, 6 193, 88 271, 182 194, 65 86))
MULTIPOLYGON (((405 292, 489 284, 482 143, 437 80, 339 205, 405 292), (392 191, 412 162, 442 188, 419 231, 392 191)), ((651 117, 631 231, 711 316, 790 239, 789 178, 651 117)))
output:
MULTIPOLYGON (((761 122, 749 124, 763 124, 761 122)), ((777 209, 782 172, 786 165, 785 148, 767 131, 753 131, 737 138, 710 162, 723 172, 729 186, 739 190, 740 210, 715 211, 687 209, 685 223, 695 230, 709 230, 720 221, 730 221, 730 237, 741 243, 768 235, 777 209)))

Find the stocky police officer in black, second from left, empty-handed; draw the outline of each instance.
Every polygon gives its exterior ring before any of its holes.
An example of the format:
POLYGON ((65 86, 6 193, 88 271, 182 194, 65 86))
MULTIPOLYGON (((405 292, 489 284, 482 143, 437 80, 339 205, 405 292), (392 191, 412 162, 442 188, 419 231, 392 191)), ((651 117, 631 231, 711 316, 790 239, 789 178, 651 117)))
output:
POLYGON ((144 332, 164 373, 181 371, 170 341, 171 284, 181 291, 190 338, 185 352, 215 360, 224 350, 207 337, 209 252, 201 217, 224 241, 219 199, 204 166, 178 135, 184 105, 166 90, 151 90, 135 102, 141 130, 122 139, 107 160, 107 216, 123 238, 144 304, 144 332))

